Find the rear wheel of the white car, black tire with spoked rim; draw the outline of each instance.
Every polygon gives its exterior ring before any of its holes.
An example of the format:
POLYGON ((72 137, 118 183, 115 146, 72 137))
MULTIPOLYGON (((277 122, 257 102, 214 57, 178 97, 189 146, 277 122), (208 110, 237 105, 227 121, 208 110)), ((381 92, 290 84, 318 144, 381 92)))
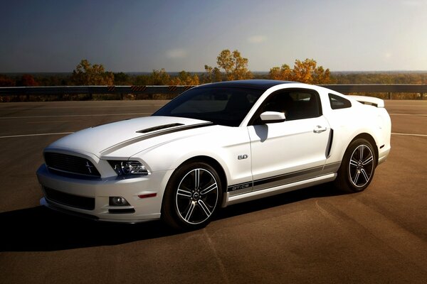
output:
POLYGON ((335 187, 347 192, 361 192, 369 186, 374 178, 376 167, 375 151, 369 141, 358 138, 344 153, 338 170, 335 187))

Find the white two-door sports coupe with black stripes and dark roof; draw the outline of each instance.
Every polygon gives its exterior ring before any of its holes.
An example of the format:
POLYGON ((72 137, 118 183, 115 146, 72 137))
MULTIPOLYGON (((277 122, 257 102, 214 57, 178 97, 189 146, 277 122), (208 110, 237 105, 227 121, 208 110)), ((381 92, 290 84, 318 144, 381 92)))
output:
POLYGON ((273 80, 204 84, 152 116, 52 143, 37 171, 41 204, 196 229, 220 207, 324 182, 362 191, 390 135, 381 99, 273 80))

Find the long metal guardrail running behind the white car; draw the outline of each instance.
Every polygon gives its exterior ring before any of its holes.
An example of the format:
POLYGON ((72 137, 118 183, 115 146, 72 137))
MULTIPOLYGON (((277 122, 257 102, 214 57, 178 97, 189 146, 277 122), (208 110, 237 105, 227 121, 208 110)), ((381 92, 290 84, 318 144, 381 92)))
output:
MULTIPOLYGON (((325 84, 322 87, 342 93, 418 93, 427 94, 427 84, 325 84)), ((181 94, 194 86, 58 86, 58 87, 0 87, 0 96, 64 94, 181 94)))

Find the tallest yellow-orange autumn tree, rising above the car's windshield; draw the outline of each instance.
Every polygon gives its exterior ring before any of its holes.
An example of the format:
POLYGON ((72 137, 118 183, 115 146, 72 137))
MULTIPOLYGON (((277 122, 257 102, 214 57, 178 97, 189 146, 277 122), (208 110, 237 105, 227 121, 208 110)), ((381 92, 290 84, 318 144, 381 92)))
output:
POLYGON ((218 67, 226 72, 227 80, 251 79, 252 73, 248 70, 248 58, 243 58, 238 50, 222 50, 216 58, 218 67))

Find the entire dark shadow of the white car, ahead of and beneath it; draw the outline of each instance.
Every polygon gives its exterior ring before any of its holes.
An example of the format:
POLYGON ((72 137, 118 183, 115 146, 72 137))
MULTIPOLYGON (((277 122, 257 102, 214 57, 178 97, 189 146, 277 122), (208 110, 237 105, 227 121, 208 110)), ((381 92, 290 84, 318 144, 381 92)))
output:
MULTIPOLYGON (((342 195, 342 192, 329 185, 309 187, 226 207, 218 212, 215 219, 227 219, 310 198, 334 195, 342 195)), ((0 224, 0 251, 60 251, 112 246, 179 234, 160 221, 139 224, 94 222, 41 206, 2 212, 0 224)))

